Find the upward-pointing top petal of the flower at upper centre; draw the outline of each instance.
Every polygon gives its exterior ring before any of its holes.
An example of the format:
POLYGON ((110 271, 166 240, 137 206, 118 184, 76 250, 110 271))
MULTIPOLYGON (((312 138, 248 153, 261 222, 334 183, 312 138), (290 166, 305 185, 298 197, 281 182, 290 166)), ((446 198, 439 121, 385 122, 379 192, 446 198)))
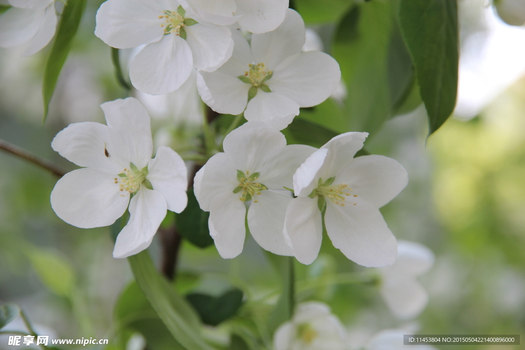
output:
POLYGON ((279 28, 265 34, 251 36, 251 51, 255 63, 265 63, 276 69, 286 58, 299 54, 306 40, 304 22, 292 9, 287 10, 286 18, 279 28))

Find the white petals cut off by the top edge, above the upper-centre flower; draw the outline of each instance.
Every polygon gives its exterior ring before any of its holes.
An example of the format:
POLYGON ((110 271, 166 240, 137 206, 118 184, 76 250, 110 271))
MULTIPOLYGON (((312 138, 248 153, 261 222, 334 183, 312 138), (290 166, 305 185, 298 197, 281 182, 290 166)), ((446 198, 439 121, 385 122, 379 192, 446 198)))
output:
POLYGON ((227 26, 238 21, 251 33, 275 30, 285 19, 288 0, 181 0, 206 22, 227 26))

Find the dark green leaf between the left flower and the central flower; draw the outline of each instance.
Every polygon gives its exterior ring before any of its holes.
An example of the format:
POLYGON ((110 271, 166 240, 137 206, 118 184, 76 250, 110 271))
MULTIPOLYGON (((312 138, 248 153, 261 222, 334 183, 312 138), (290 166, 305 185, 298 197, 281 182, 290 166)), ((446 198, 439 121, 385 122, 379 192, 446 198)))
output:
POLYGON ((188 189, 188 204, 181 214, 177 215, 177 229, 182 237, 199 248, 213 245, 213 238, 209 235, 209 212, 198 205, 193 188, 188 189))

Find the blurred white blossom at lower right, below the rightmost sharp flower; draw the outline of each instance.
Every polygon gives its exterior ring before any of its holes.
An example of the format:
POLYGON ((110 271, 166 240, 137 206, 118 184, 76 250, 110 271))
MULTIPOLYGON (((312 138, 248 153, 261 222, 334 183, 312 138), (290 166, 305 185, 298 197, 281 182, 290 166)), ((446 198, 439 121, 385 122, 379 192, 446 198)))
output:
POLYGON ((434 265, 434 253, 416 242, 398 241, 397 259, 392 266, 379 269, 381 295, 392 313, 400 319, 417 317, 428 303, 428 294, 416 277, 434 265))

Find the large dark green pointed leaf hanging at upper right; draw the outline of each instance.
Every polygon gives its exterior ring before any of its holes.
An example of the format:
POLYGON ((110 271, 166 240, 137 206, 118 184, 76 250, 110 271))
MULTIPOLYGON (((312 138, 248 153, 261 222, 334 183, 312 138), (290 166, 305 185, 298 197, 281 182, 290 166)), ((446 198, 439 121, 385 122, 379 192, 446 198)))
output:
POLYGON ((456 105, 457 0, 401 0, 400 23, 416 67, 430 135, 443 125, 456 105))

